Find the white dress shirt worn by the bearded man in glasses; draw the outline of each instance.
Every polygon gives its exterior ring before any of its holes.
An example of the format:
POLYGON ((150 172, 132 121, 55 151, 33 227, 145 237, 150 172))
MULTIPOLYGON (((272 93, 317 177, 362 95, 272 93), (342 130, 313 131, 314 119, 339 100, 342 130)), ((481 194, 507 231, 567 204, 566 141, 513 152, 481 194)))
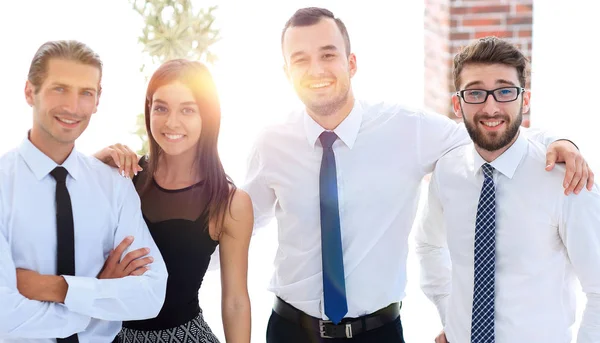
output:
MULTIPOLYGON (((417 232, 421 284, 450 343, 470 341, 475 218, 485 161, 473 143, 438 161, 417 232)), ((490 164, 496 186, 497 343, 568 343, 576 276, 587 293, 579 343, 600 342, 600 193, 564 195, 564 167, 522 133, 490 164)))

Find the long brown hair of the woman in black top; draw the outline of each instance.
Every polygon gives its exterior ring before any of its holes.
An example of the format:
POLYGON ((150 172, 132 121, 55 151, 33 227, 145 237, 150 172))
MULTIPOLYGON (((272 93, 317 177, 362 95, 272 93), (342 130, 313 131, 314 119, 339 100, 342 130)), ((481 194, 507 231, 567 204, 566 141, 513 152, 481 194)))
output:
POLYGON ((202 174, 200 176, 204 180, 205 187, 207 187, 208 218, 216 221, 217 230, 220 232, 236 187, 231 178, 225 174, 217 149, 221 126, 221 106, 217 88, 209 70, 200 62, 184 59, 167 61, 154 72, 148 83, 144 115, 150 151, 145 167, 147 177, 141 191, 143 193, 152 182, 158 168, 160 154, 163 153, 150 128, 152 97, 158 88, 176 81, 181 82, 192 91, 200 110, 202 131, 197 144, 196 166, 202 174))

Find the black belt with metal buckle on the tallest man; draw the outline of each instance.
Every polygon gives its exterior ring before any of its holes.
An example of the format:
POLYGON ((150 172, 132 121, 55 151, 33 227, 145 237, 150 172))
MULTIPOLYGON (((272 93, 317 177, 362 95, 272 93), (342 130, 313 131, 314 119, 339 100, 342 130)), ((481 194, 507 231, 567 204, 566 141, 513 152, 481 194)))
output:
POLYGON ((318 332, 322 338, 352 338, 363 332, 388 324, 400 315, 399 303, 393 303, 381 310, 359 318, 344 318, 339 324, 309 316, 292 305, 275 297, 275 313, 305 329, 318 332))

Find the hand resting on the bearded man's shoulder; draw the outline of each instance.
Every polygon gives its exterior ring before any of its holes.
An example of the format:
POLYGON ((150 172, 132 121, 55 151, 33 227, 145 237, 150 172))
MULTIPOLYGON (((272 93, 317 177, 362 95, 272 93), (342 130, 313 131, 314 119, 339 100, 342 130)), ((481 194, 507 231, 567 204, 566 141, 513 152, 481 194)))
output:
POLYGON ((550 144, 546 153, 546 170, 552 170, 557 162, 564 162, 567 167, 563 182, 565 195, 571 192, 579 194, 584 186, 592 190, 594 173, 573 143, 559 140, 550 144))

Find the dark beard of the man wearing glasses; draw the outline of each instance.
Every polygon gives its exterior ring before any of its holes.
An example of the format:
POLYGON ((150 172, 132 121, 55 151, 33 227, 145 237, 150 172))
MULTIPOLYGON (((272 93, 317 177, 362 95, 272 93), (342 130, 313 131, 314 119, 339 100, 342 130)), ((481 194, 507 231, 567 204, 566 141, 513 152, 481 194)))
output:
MULTIPOLYGON (((502 136, 498 137, 498 134, 493 136, 493 138, 496 138, 496 139, 489 140, 487 138, 487 137, 489 137, 489 135, 486 135, 485 133, 481 132, 481 130, 477 129, 478 122, 481 120, 481 118, 483 116, 475 115, 473 117, 473 124, 471 124, 468 120, 464 120, 465 127, 467 128, 467 132, 469 133, 469 136, 471 136, 471 139, 478 147, 480 147, 484 150, 487 150, 487 151, 500 150, 500 149, 506 147, 507 145, 509 145, 513 141, 513 139, 517 136, 517 134, 519 132, 519 127, 521 126, 521 123, 523 122, 522 110, 523 110, 523 104, 521 104, 521 108, 519 108, 519 115, 517 116, 517 118, 514 121, 511 121, 510 118, 506 115, 497 117, 498 119, 504 120, 504 122, 509 123, 509 125, 508 125, 508 128, 506 129, 506 131, 502 134, 502 136)), ((461 111, 462 111, 462 109, 461 109, 461 111)), ((463 118, 465 118, 464 112, 463 112, 463 118)), ((487 118, 489 118, 489 117, 487 117, 487 118)))

